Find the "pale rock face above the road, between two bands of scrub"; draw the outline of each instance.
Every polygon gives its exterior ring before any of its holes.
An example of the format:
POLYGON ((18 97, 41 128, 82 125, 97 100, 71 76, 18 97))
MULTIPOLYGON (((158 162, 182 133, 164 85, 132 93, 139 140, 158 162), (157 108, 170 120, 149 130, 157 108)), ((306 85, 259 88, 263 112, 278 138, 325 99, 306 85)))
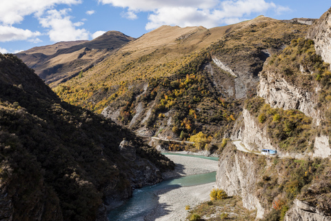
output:
POLYGON ((312 117, 317 126, 321 122, 319 111, 314 109, 316 106, 314 93, 308 89, 293 86, 270 71, 265 71, 263 75, 260 75, 257 95, 263 97, 265 103, 270 104, 272 108, 297 109, 312 117))

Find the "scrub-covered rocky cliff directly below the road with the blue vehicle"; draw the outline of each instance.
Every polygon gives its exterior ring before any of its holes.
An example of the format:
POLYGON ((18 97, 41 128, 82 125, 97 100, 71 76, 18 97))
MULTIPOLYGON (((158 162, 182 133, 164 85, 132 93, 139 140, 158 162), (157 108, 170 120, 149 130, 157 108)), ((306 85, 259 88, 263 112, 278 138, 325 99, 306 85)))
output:
POLYGON ((330 161, 295 160, 238 151, 219 158, 217 188, 239 195, 246 209, 268 220, 330 220, 330 161))

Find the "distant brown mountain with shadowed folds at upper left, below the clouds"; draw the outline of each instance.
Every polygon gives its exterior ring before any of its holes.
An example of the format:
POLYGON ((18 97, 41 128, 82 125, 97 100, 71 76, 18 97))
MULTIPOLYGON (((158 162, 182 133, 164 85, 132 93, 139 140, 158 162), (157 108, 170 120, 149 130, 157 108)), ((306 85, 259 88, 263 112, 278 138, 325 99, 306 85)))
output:
POLYGON ((16 55, 47 84, 57 86, 77 76, 82 70, 88 70, 133 39, 121 32, 109 31, 92 41, 59 42, 52 46, 31 48, 16 55))

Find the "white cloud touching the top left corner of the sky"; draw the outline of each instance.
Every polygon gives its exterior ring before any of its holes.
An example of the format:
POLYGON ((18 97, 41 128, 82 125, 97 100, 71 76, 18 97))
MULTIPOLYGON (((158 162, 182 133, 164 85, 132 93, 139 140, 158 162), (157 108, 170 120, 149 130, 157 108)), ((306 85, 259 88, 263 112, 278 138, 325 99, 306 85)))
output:
POLYGON ((77 4, 81 0, 10 0, 0 3, 0 22, 6 25, 12 25, 23 21, 26 15, 41 15, 47 9, 58 4, 77 4))

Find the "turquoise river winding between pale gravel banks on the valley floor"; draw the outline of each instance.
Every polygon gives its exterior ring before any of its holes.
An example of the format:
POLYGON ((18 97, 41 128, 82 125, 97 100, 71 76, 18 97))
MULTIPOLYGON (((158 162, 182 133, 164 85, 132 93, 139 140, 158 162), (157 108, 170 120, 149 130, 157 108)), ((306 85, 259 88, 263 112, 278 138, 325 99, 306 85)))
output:
MULTIPOLYGON (((178 154, 171 154, 178 155, 178 154)), ((169 157, 171 157, 169 155, 169 157)), ((192 159, 192 157, 198 157, 201 159, 208 159, 217 161, 217 157, 203 157, 197 155, 181 155, 188 157, 186 159, 192 159)), ((177 163, 177 162, 176 162, 177 163)), ((173 189, 179 189, 183 186, 197 186, 201 184, 208 184, 216 181, 216 172, 212 173, 203 173, 197 175, 187 175, 184 177, 179 177, 175 179, 165 180, 159 184, 152 186, 145 186, 142 189, 134 190, 132 198, 127 200, 123 206, 119 206, 117 209, 114 209, 108 213, 108 218, 110 221, 115 220, 144 220, 146 215, 152 213, 152 211, 159 205, 159 196, 160 191, 167 192, 173 189)))

